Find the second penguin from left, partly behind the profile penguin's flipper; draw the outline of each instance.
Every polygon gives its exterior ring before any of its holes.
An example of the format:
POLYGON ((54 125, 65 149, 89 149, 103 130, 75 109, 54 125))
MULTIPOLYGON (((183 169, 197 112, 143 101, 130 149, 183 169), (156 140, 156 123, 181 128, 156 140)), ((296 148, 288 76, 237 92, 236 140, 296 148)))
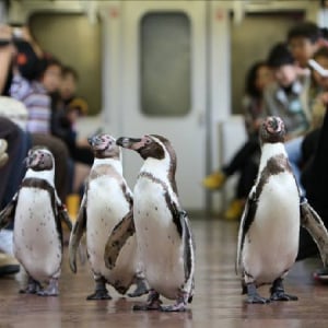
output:
POLYGON ((90 138, 89 143, 94 152, 94 163, 70 235, 71 270, 77 272, 77 248, 85 232, 87 258, 95 280, 95 291, 86 300, 110 300, 106 283, 120 294, 136 283, 136 291, 128 295, 142 295, 148 292, 148 285, 140 271, 136 236, 131 236, 122 248, 115 269, 106 268, 104 260, 108 235, 116 224, 132 213, 132 192, 122 176, 121 150, 115 138, 107 133, 90 138))

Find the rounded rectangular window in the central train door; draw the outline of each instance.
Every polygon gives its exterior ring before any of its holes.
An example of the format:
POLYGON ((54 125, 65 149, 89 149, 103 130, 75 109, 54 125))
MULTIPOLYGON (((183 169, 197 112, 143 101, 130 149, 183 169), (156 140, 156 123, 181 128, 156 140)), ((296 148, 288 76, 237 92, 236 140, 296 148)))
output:
POLYGON ((184 116, 190 110, 190 21, 179 12, 153 12, 140 25, 141 110, 184 116))

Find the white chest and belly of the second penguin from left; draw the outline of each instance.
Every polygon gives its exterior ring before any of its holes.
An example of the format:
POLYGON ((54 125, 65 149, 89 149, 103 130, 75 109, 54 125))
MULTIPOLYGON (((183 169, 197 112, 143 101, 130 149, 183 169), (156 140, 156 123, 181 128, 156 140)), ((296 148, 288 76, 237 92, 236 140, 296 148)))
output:
MULTIPOLYGON (((130 211, 132 195, 119 171, 112 165, 97 165, 90 175, 86 199, 89 259, 94 272, 108 278, 112 273, 104 262, 105 245, 114 226, 130 211)), ((133 239, 127 243, 120 254, 121 258, 128 253, 131 267, 134 266, 134 249, 133 239)))

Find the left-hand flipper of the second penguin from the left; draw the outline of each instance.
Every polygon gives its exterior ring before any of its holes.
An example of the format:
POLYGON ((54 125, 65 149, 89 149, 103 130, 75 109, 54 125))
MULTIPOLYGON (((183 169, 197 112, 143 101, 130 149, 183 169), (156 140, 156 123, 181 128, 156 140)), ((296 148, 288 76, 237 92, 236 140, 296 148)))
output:
POLYGON ((77 273, 77 249, 86 227, 86 197, 82 199, 82 203, 78 213, 77 221, 71 231, 69 242, 69 261, 71 270, 77 273))

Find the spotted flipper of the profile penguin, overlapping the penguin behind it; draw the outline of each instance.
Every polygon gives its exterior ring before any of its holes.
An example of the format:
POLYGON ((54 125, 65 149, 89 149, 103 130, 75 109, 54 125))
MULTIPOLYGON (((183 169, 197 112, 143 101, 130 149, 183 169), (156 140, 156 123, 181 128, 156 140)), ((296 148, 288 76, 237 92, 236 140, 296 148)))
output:
POLYGON ((105 265, 108 269, 115 267, 120 249, 126 244, 127 239, 136 233, 133 210, 131 209, 120 222, 113 229, 104 253, 105 265))

